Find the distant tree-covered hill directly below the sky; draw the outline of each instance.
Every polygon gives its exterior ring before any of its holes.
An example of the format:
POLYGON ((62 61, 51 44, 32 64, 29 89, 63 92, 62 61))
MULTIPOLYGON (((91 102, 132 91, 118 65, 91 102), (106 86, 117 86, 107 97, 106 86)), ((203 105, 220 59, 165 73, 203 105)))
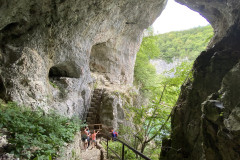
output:
POLYGON ((185 31, 144 37, 142 44, 153 43, 154 41, 155 45, 158 46, 158 53, 149 54, 151 59, 161 58, 169 62, 173 57, 188 57, 189 60, 194 60, 201 51, 205 50, 212 36, 213 29, 208 25, 185 31))

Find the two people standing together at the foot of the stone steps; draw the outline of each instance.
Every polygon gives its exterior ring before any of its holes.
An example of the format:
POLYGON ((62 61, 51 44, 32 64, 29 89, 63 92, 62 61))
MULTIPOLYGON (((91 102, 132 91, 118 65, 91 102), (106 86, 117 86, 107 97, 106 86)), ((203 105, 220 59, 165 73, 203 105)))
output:
POLYGON ((98 133, 99 131, 96 132, 95 130, 93 130, 93 132, 90 132, 89 128, 85 127, 84 133, 82 135, 82 141, 85 150, 87 150, 90 146, 92 146, 92 148, 96 147, 96 137, 98 133))

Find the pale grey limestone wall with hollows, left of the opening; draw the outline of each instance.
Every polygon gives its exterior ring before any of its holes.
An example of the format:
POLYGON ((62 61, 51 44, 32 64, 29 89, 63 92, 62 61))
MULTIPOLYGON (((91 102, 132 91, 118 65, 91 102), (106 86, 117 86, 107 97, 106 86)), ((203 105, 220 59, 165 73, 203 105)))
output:
POLYGON ((142 32, 166 0, 0 0, 0 98, 86 115, 92 72, 132 84, 142 32))

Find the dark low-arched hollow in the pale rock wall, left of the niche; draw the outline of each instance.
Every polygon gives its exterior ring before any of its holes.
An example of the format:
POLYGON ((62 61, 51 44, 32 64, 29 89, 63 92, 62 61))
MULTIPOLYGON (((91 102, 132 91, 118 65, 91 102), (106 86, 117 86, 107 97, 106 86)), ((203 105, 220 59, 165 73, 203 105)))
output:
POLYGON ((49 78, 80 78, 81 71, 82 70, 78 69, 74 63, 62 63, 51 67, 48 76, 49 78))

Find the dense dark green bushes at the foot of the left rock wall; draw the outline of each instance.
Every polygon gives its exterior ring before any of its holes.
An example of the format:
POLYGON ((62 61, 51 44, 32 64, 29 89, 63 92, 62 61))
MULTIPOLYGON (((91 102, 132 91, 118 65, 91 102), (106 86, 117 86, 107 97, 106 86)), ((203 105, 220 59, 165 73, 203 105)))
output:
POLYGON ((32 111, 13 102, 0 103, 0 128, 7 128, 11 143, 7 151, 20 159, 56 157, 64 143, 72 142, 81 124, 77 117, 32 111))

